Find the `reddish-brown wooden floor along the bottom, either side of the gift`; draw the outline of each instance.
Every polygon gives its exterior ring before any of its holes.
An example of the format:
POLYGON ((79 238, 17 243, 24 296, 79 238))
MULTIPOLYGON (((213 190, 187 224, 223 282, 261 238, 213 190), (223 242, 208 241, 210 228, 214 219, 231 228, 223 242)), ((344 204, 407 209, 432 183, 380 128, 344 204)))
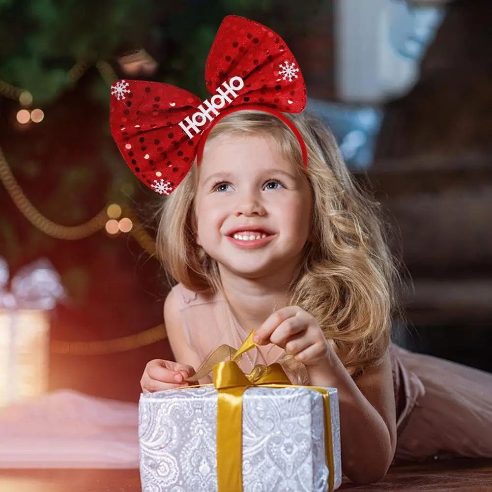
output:
MULTIPOLYGON (((394 467, 379 483, 354 492, 492 492, 492 460, 394 467)), ((1 492, 141 492, 138 470, 0 470, 1 492)), ((198 491, 197 491, 198 492, 198 491)))

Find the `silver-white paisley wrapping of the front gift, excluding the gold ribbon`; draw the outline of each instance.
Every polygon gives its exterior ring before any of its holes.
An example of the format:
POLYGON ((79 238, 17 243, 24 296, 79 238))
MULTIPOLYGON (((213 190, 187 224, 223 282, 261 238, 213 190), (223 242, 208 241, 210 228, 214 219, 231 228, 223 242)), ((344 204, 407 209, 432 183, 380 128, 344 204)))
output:
MULTIPOLYGON (((244 492, 326 492, 341 483, 337 390, 330 393, 334 469, 325 458, 323 397, 303 387, 246 389, 244 492)), ((142 492, 217 492, 217 390, 213 386, 142 394, 142 492)))

